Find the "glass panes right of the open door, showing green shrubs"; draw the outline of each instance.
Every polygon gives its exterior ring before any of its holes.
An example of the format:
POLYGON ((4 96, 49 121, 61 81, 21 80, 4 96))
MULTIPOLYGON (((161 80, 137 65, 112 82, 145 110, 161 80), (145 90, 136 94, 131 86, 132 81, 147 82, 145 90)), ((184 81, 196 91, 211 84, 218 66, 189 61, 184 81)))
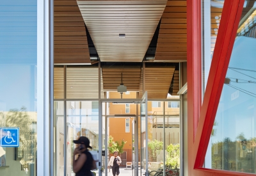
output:
POLYGON ((148 172, 180 169, 180 102, 148 102, 148 172))

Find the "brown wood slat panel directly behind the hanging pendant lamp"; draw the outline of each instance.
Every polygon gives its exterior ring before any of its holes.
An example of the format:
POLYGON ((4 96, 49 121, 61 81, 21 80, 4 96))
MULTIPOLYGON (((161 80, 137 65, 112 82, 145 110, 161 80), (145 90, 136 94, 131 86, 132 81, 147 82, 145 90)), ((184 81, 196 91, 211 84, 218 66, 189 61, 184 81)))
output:
POLYGON ((141 68, 102 68, 104 91, 116 91, 120 86, 121 76, 127 91, 140 90, 141 68))

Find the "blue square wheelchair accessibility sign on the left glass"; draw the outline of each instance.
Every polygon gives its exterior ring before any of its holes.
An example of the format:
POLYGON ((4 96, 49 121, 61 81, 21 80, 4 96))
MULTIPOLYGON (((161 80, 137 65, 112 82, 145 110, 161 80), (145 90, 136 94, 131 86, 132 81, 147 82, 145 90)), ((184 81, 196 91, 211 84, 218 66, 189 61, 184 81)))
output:
POLYGON ((2 147, 19 147, 20 129, 1 128, 0 138, 0 146, 2 147))

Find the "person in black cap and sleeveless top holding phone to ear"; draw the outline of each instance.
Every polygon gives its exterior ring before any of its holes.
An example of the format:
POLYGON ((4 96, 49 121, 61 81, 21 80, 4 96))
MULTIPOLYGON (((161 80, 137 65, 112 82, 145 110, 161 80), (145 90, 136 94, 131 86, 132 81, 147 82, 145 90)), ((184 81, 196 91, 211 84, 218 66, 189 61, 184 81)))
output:
POLYGON ((78 140, 74 140, 74 143, 78 145, 73 154, 73 171, 76 176, 92 176, 91 170, 96 168, 96 163, 92 157, 92 154, 88 151, 90 146, 90 140, 85 136, 81 136, 78 140), (76 159, 76 155, 78 158, 76 159))

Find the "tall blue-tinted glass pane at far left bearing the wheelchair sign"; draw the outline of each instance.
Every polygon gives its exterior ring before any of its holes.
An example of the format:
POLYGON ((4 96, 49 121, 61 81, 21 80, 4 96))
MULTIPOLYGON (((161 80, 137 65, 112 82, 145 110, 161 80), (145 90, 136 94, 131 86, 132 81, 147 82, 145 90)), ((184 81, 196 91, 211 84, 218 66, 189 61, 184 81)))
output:
POLYGON ((0 175, 36 175, 36 9, 0 3, 0 175))

